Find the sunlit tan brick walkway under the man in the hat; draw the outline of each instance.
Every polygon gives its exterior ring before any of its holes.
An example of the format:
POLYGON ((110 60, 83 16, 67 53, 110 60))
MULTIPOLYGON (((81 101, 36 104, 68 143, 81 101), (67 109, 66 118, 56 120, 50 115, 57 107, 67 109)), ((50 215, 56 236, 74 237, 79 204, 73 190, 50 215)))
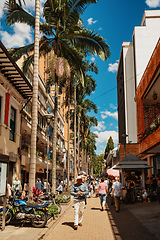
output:
POLYGON ((83 226, 74 230, 73 206, 50 228, 43 240, 114 240, 111 224, 106 211, 100 210, 99 198, 87 199, 83 226))

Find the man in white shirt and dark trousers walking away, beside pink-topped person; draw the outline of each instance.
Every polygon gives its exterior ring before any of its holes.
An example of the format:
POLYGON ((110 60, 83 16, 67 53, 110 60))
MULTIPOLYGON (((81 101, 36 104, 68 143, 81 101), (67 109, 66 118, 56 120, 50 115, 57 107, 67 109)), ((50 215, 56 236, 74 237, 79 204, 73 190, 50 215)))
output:
POLYGON ((116 212, 120 210, 120 197, 122 197, 122 184, 119 182, 119 177, 115 177, 115 182, 112 184, 112 194, 114 196, 116 212))

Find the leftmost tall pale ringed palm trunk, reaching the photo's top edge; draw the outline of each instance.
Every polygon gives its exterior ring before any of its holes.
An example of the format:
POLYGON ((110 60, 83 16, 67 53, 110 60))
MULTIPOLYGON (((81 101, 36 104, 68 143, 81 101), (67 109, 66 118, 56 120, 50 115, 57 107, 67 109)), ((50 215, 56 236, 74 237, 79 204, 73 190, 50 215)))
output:
POLYGON ((36 0, 35 1, 31 158, 30 158, 30 165, 29 165, 29 201, 30 202, 33 199, 32 188, 35 186, 35 173, 36 173, 36 140, 37 140, 37 120, 38 120, 39 19, 40 19, 40 0, 36 0))

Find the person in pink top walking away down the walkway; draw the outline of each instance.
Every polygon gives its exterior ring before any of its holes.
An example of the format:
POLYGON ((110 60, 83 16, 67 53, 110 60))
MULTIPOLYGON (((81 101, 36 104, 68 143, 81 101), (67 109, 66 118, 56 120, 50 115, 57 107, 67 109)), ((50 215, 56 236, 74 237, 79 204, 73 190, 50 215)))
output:
POLYGON ((106 195, 108 193, 108 187, 107 184, 104 182, 104 178, 101 178, 101 183, 99 183, 97 191, 100 197, 100 203, 102 207, 101 210, 103 211, 106 204, 106 195))

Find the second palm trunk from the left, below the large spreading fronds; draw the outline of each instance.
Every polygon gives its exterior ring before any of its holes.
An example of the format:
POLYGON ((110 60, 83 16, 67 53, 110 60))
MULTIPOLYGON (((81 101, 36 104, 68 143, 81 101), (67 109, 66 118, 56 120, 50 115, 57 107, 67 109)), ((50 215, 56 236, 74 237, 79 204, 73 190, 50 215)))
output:
POLYGON ((57 146, 57 118, 58 118, 58 77, 55 76, 55 105, 53 124, 53 155, 52 155, 52 193, 56 193, 56 146, 57 146))

